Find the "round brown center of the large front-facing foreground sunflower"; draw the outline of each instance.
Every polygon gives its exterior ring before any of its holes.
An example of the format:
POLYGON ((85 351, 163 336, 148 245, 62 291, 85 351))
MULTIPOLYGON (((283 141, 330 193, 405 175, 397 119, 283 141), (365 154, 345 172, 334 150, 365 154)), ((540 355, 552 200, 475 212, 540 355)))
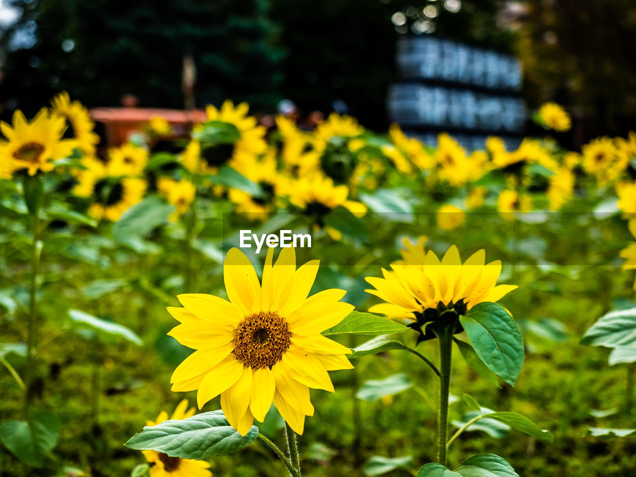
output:
POLYGON ((248 315, 234 330, 234 356, 253 369, 272 368, 289 348, 287 321, 275 312, 248 315))

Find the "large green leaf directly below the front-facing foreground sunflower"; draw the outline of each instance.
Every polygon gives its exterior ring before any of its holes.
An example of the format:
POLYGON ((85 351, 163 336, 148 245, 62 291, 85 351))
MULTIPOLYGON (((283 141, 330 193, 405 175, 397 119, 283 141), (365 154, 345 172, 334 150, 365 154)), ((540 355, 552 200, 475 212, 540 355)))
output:
POLYGON ((257 436, 255 425, 241 436, 228 424, 223 411, 218 410, 146 426, 128 439, 125 446, 137 450, 152 449, 181 459, 205 460, 237 452, 250 445, 257 436))

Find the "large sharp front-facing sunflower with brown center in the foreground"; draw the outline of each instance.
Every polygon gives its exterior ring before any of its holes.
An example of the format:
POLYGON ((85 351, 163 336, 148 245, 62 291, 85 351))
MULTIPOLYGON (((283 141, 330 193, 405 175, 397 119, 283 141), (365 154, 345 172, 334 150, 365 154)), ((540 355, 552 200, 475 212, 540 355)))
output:
POLYGON ((196 349, 172 374, 172 391, 197 391, 198 407, 221 394, 221 408, 245 435, 254 418, 263 421, 272 403, 287 424, 303 433, 314 414, 309 388, 333 392, 327 371, 351 369, 350 350, 321 335, 353 309, 339 301, 345 290, 328 289, 307 298, 319 261, 296 270, 291 247, 272 266, 269 249, 262 284, 239 249, 228 251, 223 278, 229 301, 207 294, 177 296, 169 307, 181 324, 169 335, 196 349))

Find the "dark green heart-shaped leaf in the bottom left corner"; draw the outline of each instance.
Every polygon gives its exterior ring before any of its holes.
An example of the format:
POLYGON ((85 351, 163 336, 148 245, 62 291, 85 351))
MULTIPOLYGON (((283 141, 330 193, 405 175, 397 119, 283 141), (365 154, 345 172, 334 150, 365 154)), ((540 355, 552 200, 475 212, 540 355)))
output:
POLYGON ((0 441, 22 462, 42 467, 55 444, 60 422, 51 411, 31 410, 29 421, 6 420, 0 424, 0 441))

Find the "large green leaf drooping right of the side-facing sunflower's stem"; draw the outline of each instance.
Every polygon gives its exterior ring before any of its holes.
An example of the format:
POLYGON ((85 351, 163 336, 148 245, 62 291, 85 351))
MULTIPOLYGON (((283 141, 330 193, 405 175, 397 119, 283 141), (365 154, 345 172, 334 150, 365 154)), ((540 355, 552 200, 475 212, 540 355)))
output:
POLYGON ((497 303, 478 303, 459 321, 477 356, 511 386, 523 365, 523 338, 513 318, 497 303))

